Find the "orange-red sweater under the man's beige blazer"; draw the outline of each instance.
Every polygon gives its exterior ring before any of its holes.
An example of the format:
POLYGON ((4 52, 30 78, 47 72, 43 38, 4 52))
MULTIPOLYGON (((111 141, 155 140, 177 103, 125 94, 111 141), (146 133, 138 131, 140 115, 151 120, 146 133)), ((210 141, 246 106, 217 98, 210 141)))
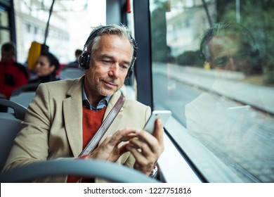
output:
MULTIPOLYGON (((83 106, 83 149, 89 143, 91 138, 96 134, 100 125, 102 125, 103 117, 105 114, 105 108, 94 111, 89 110, 83 106)), ((85 155, 83 156, 83 158, 85 155)), ((75 183, 81 177, 69 176, 67 177, 67 183, 75 183)), ((83 178, 81 182, 89 182, 90 178, 83 178)))

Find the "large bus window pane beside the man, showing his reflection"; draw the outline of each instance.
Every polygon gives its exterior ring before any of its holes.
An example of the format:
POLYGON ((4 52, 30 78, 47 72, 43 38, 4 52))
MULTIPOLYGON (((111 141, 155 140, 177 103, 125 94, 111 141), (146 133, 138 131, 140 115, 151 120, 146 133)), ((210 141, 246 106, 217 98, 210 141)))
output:
POLYGON ((273 16, 274 1, 150 1, 154 108, 209 182, 274 182, 273 16))

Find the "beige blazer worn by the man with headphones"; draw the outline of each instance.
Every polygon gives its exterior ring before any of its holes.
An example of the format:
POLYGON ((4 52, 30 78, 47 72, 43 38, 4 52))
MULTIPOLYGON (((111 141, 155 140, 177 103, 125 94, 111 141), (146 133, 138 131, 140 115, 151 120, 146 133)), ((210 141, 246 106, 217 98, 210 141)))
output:
MULTIPOLYGON (((84 77, 40 84, 30 103, 23 129, 15 139, 4 171, 39 160, 76 158, 82 151, 81 84, 84 77)), ((107 105, 104 119, 120 96, 115 93, 107 105)), ((149 106, 126 98, 124 106, 103 136, 130 127, 142 129, 150 116, 149 106)), ((134 158, 124 153, 117 163, 133 166, 134 158)), ((66 177, 43 179, 43 182, 66 182, 66 177)))

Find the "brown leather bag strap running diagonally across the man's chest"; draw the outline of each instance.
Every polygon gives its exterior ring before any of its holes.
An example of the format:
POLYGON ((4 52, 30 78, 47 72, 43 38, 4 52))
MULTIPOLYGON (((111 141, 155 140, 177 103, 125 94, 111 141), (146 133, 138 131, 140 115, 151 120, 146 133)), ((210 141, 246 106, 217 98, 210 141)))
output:
POLYGON ((83 155, 87 155, 91 153, 91 151, 93 151, 93 149, 97 146, 98 142, 100 141, 100 139, 102 139, 103 135, 105 134, 105 132, 110 127, 111 123, 113 122, 117 114, 119 113, 119 110, 124 105, 124 101, 126 101, 126 98, 124 98, 124 96, 121 94, 118 101, 115 103, 115 106, 113 106, 112 110, 107 115, 107 117, 103 121, 102 125, 100 126, 96 134, 89 141, 89 144, 87 144, 84 150, 81 151, 79 157, 83 155))

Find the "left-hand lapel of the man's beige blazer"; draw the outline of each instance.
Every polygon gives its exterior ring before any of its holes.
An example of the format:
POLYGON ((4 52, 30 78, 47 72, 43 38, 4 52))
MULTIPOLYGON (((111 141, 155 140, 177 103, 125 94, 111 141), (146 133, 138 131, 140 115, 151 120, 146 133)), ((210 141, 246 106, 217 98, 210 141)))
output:
POLYGON ((81 83, 82 80, 77 80, 63 100, 65 129, 74 157, 78 157, 83 148, 81 83))

